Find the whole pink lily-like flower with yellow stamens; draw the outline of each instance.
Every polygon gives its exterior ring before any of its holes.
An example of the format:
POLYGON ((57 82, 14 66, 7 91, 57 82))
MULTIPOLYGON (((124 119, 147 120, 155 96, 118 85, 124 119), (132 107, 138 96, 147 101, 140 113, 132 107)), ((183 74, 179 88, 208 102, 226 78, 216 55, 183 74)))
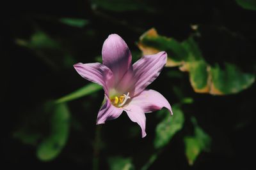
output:
POLYGON ((117 34, 111 34, 102 47, 103 64, 77 63, 76 71, 86 80, 102 85, 105 103, 100 108, 97 124, 118 118, 125 111, 132 122, 141 127, 142 138, 146 136, 146 117, 149 113, 167 108, 168 101, 157 91, 145 89, 160 74, 166 64, 166 52, 145 55, 131 64, 131 52, 117 34))

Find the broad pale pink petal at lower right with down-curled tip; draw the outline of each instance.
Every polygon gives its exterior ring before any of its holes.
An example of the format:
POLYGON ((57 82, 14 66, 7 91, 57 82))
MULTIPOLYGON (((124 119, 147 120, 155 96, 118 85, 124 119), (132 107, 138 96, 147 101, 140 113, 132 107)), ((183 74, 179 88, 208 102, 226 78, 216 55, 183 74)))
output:
POLYGON ((171 115, 172 107, 168 101, 164 98, 162 94, 155 90, 143 90, 138 96, 133 97, 129 105, 140 106, 140 108, 145 113, 149 113, 156 110, 161 110, 161 108, 167 108, 171 115))

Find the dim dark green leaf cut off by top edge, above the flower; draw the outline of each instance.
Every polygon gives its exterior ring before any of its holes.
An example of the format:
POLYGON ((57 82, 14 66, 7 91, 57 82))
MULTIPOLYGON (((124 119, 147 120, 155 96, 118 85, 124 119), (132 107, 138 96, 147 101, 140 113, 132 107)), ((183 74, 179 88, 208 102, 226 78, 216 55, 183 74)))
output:
POLYGON ((153 11, 145 1, 140 0, 91 0, 93 8, 98 7, 103 10, 122 12, 122 11, 153 11))

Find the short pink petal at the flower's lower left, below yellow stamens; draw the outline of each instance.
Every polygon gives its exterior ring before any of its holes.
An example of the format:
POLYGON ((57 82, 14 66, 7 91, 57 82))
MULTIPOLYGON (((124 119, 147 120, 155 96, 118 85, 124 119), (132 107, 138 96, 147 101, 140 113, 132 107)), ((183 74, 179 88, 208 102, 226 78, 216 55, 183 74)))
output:
POLYGON ((106 102, 100 108, 100 111, 98 113, 97 125, 105 124, 106 120, 113 120, 115 118, 118 118, 122 112, 123 110, 121 108, 116 108, 115 106, 113 106, 110 103, 108 97, 106 97, 106 102))

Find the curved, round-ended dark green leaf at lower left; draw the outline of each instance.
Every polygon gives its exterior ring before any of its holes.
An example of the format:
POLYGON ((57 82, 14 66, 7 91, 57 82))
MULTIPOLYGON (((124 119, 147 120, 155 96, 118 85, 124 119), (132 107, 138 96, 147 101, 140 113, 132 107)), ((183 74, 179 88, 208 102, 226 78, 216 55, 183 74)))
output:
POLYGON ((49 161, 58 156, 67 143, 70 113, 65 103, 52 105, 51 133, 37 148, 37 157, 49 161))

